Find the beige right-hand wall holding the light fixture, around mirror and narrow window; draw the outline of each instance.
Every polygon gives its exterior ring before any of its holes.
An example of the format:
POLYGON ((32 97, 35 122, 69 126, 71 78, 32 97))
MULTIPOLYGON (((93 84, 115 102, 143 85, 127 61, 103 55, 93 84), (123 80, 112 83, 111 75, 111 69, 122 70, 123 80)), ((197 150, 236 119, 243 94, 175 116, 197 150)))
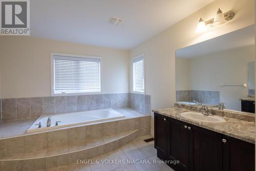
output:
MULTIPOLYGON (((152 109, 174 106, 175 51, 177 49, 253 24, 253 0, 216 0, 131 50, 131 58, 145 53, 145 93, 151 95, 152 109), (206 33, 195 33, 199 18, 208 20, 214 17, 218 8, 223 12, 232 10, 236 15, 222 26, 212 28, 206 33)), ((153 127, 152 119, 152 129, 153 127)))

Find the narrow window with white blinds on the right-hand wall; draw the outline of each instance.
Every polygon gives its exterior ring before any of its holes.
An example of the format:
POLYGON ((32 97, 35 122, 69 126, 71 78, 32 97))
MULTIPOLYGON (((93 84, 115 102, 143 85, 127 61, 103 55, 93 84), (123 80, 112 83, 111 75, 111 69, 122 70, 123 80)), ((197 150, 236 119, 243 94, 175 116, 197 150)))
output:
POLYGON ((144 93, 144 55, 133 59, 133 91, 144 93))

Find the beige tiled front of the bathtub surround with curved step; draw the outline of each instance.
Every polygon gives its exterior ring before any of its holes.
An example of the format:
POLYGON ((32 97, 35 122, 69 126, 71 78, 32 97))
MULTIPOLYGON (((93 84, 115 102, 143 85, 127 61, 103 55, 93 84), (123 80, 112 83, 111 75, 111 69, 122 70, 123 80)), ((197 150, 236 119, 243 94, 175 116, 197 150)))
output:
POLYGON ((117 110, 126 115, 126 119, 1 139, 2 170, 11 170, 8 166, 15 163, 19 166, 28 164, 34 169, 67 165, 77 159, 109 153, 138 136, 150 134, 150 115, 127 108, 117 110))

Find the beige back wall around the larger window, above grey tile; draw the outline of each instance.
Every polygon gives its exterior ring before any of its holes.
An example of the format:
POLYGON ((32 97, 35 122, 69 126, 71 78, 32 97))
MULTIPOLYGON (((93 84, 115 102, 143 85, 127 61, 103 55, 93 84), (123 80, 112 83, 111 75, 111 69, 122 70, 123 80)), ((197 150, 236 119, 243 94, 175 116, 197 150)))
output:
POLYGON ((103 93, 129 92, 129 51, 26 36, 0 38, 1 98, 50 96, 50 53, 102 57, 103 93))

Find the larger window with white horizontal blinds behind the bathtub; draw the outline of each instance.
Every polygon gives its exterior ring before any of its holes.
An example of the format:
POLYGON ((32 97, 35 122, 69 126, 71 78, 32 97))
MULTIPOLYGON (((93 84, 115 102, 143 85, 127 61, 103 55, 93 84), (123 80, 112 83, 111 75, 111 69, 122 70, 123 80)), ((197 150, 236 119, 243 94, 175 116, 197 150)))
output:
POLYGON ((51 55, 52 96, 101 92, 100 58, 51 55))

